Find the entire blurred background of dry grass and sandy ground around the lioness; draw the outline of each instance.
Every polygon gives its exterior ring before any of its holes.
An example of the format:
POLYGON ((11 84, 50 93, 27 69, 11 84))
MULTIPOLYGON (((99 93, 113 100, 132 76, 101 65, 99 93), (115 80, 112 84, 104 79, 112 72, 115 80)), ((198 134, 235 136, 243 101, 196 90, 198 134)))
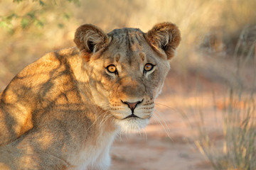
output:
POLYGON ((75 46, 83 23, 106 33, 176 23, 182 41, 155 117, 141 135, 117 138, 111 169, 256 169, 255 8, 255 0, 1 0, 0 90, 46 52, 75 46))

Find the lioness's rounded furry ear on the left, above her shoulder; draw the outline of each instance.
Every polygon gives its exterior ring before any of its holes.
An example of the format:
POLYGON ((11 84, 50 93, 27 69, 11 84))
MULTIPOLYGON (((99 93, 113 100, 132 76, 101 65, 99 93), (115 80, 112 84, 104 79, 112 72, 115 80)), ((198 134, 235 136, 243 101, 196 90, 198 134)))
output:
POLYGON ((107 46, 108 39, 107 34, 100 30, 100 28, 91 24, 85 24, 75 31, 74 42, 80 50, 82 57, 89 61, 93 53, 107 46))

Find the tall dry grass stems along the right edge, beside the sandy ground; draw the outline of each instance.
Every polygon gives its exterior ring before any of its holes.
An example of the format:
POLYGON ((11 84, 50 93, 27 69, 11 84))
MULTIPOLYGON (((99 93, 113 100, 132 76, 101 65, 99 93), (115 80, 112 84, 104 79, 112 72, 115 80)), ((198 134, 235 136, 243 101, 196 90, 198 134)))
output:
MULTIPOLYGON (((222 111, 223 140, 213 140, 203 123, 198 128, 196 146, 214 169, 256 169, 256 69, 251 57, 255 52, 255 30, 255 26, 242 30, 233 57, 235 79, 228 84, 228 96, 223 96, 222 106, 214 103, 222 111), (250 77, 245 69, 249 69, 250 77)), ((203 114, 200 115, 203 122, 203 114)))

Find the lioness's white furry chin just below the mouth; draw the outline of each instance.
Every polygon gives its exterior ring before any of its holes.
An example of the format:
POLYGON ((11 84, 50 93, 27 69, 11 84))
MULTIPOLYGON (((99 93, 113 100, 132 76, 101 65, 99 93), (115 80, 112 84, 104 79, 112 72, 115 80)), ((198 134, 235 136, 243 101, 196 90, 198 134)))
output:
POLYGON ((116 120, 117 125, 121 128, 122 132, 139 132, 149 124, 149 119, 142 118, 126 118, 123 120, 116 120))

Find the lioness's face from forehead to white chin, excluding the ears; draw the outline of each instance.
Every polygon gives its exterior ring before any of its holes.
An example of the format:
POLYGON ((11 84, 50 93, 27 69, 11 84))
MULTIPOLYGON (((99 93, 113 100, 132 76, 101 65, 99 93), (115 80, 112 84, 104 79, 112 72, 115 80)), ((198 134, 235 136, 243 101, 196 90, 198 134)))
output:
POLYGON ((86 60, 95 103, 108 111, 109 115, 104 116, 112 118, 122 130, 144 128, 170 69, 170 56, 158 47, 160 42, 153 42, 150 32, 145 35, 139 29, 113 30, 104 40, 96 38, 98 42, 105 41, 99 49, 90 39, 92 35, 87 36, 91 53, 82 50, 80 53, 86 60))

